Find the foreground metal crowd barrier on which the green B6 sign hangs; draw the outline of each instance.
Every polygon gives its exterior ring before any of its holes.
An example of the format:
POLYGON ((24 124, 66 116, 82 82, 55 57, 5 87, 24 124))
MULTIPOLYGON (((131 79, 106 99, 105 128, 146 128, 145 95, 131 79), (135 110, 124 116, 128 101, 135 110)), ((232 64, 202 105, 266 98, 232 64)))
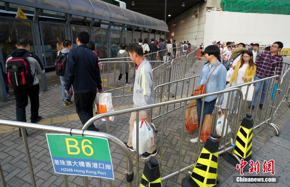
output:
MULTIPOLYGON (((26 122, 19 122, 19 121, 10 121, 10 120, 1 120, 0 119, 0 125, 7 125, 7 126, 13 126, 13 127, 18 127, 21 128, 22 132, 22 137, 23 137, 23 145, 24 149, 26 152, 26 157, 27 157, 27 164, 28 164, 28 169, 31 177, 31 184, 33 187, 36 187, 36 182, 34 178, 34 173, 33 173, 33 166, 31 162, 31 156, 30 156, 30 151, 29 151, 29 145, 27 142, 27 136, 25 133, 25 129, 36 129, 36 130, 41 130, 41 131, 49 131, 49 132, 58 132, 58 133, 65 133, 65 134, 71 134, 71 135, 87 135, 87 136, 94 136, 94 137, 100 137, 100 138, 106 138, 109 140, 109 142, 113 142, 116 144, 124 153, 126 160, 127 160, 127 171, 126 175, 131 176, 133 175, 133 160, 132 160, 132 155, 130 154, 130 151, 128 150, 127 146, 118 138, 104 133, 104 132, 96 132, 96 131, 91 131, 91 130, 80 130, 80 129, 70 129, 66 127, 56 127, 56 126, 51 126, 51 125, 41 125, 41 124, 34 124, 34 123, 26 123, 26 122)), ((3 187, 6 187, 6 182, 4 179, 3 171, 1 169, 0 165, 0 179, 3 187)), ((88 187, 88 180, 87 177, 83 177, 83 182, 84 182, 84 187, 88 187)), ((64 183, 65 187, 68 187, 68 179, 67 175, 64 175, 64 183)), ((112 180, 110 180, 110 186, 112 186, 112 180)), ((102 179, 99 178, 99 186, 102 186, 102 179)), ((127 182, 127 187, 132 187, 132 182, 127 182)))

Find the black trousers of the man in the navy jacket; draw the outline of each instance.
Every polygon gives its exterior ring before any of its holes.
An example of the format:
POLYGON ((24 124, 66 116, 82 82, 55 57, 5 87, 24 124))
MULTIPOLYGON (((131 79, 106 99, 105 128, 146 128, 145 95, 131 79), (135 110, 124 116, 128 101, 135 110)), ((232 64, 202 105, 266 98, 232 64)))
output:
MULTIPOLYGON (((97 95, 97 89, 86 93, 75 93, 75 108, 83 125, 93 117, 93 104, 97 95)), ((94 130, 91 124, 87 130, 94 130)))

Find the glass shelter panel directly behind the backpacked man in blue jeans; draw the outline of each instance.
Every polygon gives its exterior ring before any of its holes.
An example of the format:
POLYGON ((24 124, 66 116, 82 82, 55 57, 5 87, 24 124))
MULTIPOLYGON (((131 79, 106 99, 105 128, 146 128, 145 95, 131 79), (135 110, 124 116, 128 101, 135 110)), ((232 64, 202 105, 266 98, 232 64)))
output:
POLYGON ((65 40, 65 25, 41 23, 41 31, 46 67, 53 67, 65 40))

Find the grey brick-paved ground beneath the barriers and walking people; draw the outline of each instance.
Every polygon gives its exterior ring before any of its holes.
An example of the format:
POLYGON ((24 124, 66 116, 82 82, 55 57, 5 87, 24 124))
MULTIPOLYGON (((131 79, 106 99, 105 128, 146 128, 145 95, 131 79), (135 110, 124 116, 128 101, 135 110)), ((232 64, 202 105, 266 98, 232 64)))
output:
MULTIPOLYGON (((202 62, 201 62, 202 64, 202 62)), ((198 63, 197 63, 198 65, 198 63)), ((198 75, 201 66, 195 67, 196 75, 198 75)), ((193 76, 192 72, 187 75, 193 76)), ((40 93, 40 110, 39 113, 43 116, 43 120, 40 121, 41 124, 64 126, 69 128, 81 128, 82 125, 80 120, 75 115, 75 106, 62 106, 60 102, 60 81, 56 80, 57 77, 51 74, 49 76, 48 86, 49 90, 47 92, 40 93)), ((193 83, 194 84, 194 83, 193 83)), ((176 86, 178 90, 180 87, 176 86)), ((192 83, 190 84, 192 86, 192 83)), ((173 88, 173 90, 175 90, 173 88)), ((178 92, 180 94, 180 92, 178 92)), ((184 94, 182 94, 184 95, 184 94)), ((13 98, 13 93, 9 101, 6 103, 0 103, 0 119, 15 120, 15 101, 13 98)), ((181 97, 181 96, 180 96, 181 97)), ((132 97, 119 97, 113 99, 113 103, 117 109, 122 109, 124 107, 132 107, 132 97)), ((171 106, 172 107, 172 106, 171 106)), ((27 107, 27 121, 30 116, 30 104, 27 107)), ((246 111, 245 111, 246 112, 246 111)), ((155 110, 154 115, 157 115, 158 109, 155 110)), ((286 104, 282 104, 279 108, 277 115, 274 116, 273 122, 282 128, 290 119, 290 108, 286 104)), ((265 114, 260 114, 259 111, 257 116, 263 116, 265 114)), ((183 110, 179 109, 172 113, 165 115, 164 117, 164 144, 162 146, 162 176, 168 175, 176 170, 178 170, 179 162, 179 150, 181 146, 181 131, 182 131, 182 116, 183 110)), ((113 122, 110 122, 110 133, 122 141, 128 139, 128 120, 130 114, 125 114, 122 116, 116 116, 113 122)), ((157 160, 160 158, 161 148, 161 119, 158 118, 154 121, 157 125, 158 132, 155 134, 155 142, 157 144, 158 154, 156 156, 157 160)), ((105 132, 106 125, 104 122, 97 121, 95 123, 98 128, 105 132)), ((7 128, 7 127, 5 127, 7 128)), ((9 127, 10 128, 10 127, 9 127)), ((28 173, 26 155, 23 148, 23 141, 18 137, 18 132, 13 132, 17 130, 14 128, 1 129, 0 133, 0 161, 2 169, 4 171, 5 180, 8 186, 31 186, 30 175, 28 173), (6 131, 5 131, 6 130, 6 131)), ((289 147, 286 140, 289 132, 284 128, 281 130, 280 137, 273 137, 275 135, 274 130, 269 125, 262 125, 254 130, 253 139, 253 154, 257 160, 269 160, 277 159, 277 170, 275 176, 279 177, 279 183, 269 186, 287 186, 287 181, 289 180, 287 175, 289 175, 290 170, 287 168, 289 162, 288 155, 289 147), (273 137, 273 138, 272 138, 273 137), (272 139, 271 139, 272 138, 272 139), (285 139, 285 140, 283 140, 285 139), (270 140, 270 141, 269 141, 270 140), (286 141, 286 143, 284 143, 286 141), (274 145, 275 144, 275 145, 274 145), (278 146, 279 145, 279 146, 278 146), (281 146, 281 147, 280 147, 281 146), (271 150, 271 149, 274 150, 271 150), (287 150, 288 149, 288 150, 287 150), (280 153, 279 153, 280 152, 280 153), (283 155, 283 154, 284 155, 283 155), (277 156, 278 155, 278 156, 277 156)), ((33 163, 33 169, 36 178, 37 186, 64 186, 63 176, 54 173, 53 166, 51 163, 50 154, 48 151, 45 133, 38 130, 28 130, 29 137, 29 147, 31 152, 31 158, 33 163)), ((193 137, 196 137, 197 130, 193 133, 187 133, 184 130, 183 146, 181 150, 181 167, 186 167, 195 161, 197 146, 189 142, 193 137)), ((288 140, 289 141, 289 140, 288 140)), ((202 147, 204 144, 201 144, 202 147)), ((115 180, 113 181, 114 186, 126 186, 125 184, 125 171, 126 171, 126 160, 123 157, 122 151, 118 149, 115 145, 110 147, 112 158, 113 158, 113 168, 115 180)), ((136 174, 136 154, 133 154, 134 173, 136 174)), ((276 166, 276 165, 275 165, 276 166)), ((144 167, 144 160, 139 159, 139 179, 141 178, 144 167)), ((275 169, 276 169, 275 168, 275 169)), ((162 182, 163 186, 181 186, 181 180, 189 175, 187 172, 183 172, 176 175, 166 181, 162 182)), ((227 161, 223 160, 223 157, 219 157, 218 175, 220 176, 219 186, 252 186, 253 184, 233 184, 233 177, 237 176, 237 170, 234 166, 230 165, 227 161)), ((90 186, 98 186, 98 181, 96 178, 89 178, 90 186)), ((107 180, 103 180, 104 186, 108 186, 107 180)), ((136 185, 136 175, 135 175, 135 185, 136 185)), ((75 175, 69 176, 70 186, 82 186, 82 178, 75 175)), ((257 186, 257 185, 256 185, 257 186)), ((261 183, 258 186, 265 186, 261 183)))

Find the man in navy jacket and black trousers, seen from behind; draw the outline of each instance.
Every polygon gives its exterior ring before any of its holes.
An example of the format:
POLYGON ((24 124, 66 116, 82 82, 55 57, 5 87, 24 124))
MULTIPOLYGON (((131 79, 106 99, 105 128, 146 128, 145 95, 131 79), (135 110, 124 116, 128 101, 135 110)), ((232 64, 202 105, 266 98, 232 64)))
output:
MULTIPOLYGON (((75 94, 76 112, 84 125, 93 117, 93 104, 97 89, 103 93, 98 58, 92 50, 87 47, 89 33, 82 31, 76 36, 78 47, 70 50, 65 68, 65 93, 70 93, 73 85, 75 94)), ((99 131, 94 124, 87 130, 99 131)))

